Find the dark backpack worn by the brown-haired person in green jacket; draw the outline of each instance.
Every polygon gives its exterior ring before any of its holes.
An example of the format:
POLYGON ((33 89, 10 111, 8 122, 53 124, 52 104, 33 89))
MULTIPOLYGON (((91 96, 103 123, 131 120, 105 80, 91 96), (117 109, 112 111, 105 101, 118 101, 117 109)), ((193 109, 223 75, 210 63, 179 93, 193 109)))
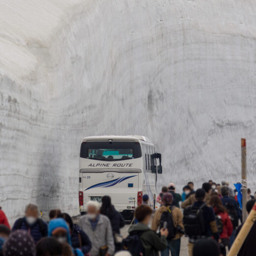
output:
POLYGON ((145 255, 145 249, 140 241, 140 236, 145 231, 129 234, 128 237, 123 239, 122 247, 125 251, 128 251, 131 256, 143 256, 145 255))

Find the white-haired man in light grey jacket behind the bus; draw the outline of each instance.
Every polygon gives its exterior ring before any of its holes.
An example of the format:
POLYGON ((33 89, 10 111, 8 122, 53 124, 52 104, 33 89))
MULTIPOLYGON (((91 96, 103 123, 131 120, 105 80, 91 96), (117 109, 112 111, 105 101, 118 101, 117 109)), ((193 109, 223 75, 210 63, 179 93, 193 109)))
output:
POLYGON ((79 220, 79 226, 87 233, 91 242, 91 256, 111 256, 115 245, 111 223, 105 215, 99 214, 100 205, 96 201, 86 204, 87 214, 79 220))

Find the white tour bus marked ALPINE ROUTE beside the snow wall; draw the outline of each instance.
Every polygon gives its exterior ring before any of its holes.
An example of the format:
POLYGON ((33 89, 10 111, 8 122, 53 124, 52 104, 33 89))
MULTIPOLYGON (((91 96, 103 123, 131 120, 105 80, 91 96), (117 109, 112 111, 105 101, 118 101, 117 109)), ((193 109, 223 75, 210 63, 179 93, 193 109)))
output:
POLYGON ((93 136, 83 139, 79 164, 79 205, 84 214, 89 200, 101 202, 109 195, 126 220, 148 194, 156 207, 157 177, 162 173, 161 154, 147 137, 93 136))

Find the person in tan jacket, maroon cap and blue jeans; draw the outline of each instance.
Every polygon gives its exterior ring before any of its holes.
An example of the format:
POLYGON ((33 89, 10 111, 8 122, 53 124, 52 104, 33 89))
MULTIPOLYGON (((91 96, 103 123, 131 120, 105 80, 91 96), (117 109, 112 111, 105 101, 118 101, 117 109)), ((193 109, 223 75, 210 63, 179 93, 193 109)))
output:
POLYGON ((161 215, 164 212, 170 211, 177 233, 173 239, 167 240, 167 248, 163 252, 161 252, 161 256, 169 256, 169 251, 171 252, 172 256, 179 256, 181 247, 181 237, 183 236, 183 234, 180 233, 178 230, 184 229, 183 214, 178 207, 176 207, 175 205, 172 206, 173 196, 171 193, 165 193, 162 199, 164 205, 162 205, 156 211, 151 228, 156 232, 160 226, 161 215))

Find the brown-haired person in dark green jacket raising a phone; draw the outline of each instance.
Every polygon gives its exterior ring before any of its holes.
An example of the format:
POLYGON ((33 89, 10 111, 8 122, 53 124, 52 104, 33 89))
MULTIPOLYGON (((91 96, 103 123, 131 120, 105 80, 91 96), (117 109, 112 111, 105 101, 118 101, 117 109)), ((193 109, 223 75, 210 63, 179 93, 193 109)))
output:
POLYGON ((135 209, 135 218, 137 224, 131 225, 128 229, 130 235, 140 234, 140 241, 145 249, 144 256, 158 256, 159 251, 163 251, 167 247, 166 237, 168 230, 165 228, 160 229, 160 234, 157 234, 148 225, 152 219, 153 210, 150 206, 142 204, 135 209))

